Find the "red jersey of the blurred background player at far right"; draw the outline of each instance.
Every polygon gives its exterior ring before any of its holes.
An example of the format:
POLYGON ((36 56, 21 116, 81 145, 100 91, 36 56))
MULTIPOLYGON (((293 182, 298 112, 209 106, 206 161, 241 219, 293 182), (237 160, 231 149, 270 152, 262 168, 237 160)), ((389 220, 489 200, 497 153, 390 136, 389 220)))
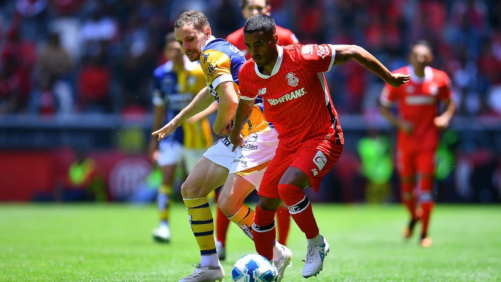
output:
POLYGON ((433 119, 438 114, 438 102, 452 98, 449 77, 431 67, 424 69, 424 78, 418 78, 412 66, 403 67, 394 73, 412 75, 407 84, 398 88, 386 84, 380 97, 381 104, 385 106, 396 102, 400 117, 414 127, 410 134, 398 131, 398 147, 408 150, 436 148, 438 128, 433 124, 433 119))

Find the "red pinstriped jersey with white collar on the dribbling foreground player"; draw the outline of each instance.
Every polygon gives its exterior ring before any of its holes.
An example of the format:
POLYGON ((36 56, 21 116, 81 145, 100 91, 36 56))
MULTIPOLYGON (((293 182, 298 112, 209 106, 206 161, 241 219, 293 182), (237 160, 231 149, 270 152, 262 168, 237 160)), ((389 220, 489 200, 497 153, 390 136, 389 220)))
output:
POLYGON ((240 98, 263 97, 265 118, 279 133, 280 149, 295 151, 330 138, 344 144, 323 73, 332 67, 334 47, 289 45, 277 49, 279 56, 271 76, 260 73, 253 59, 241 66, 240 98))

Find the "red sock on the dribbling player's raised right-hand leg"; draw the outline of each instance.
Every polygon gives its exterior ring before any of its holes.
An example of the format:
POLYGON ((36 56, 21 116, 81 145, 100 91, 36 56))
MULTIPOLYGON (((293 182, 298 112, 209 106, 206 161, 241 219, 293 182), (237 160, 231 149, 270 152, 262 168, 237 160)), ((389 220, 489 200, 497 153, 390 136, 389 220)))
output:
POLYGON ((303 189, 291 184, 279 184, 279 194, 299 229, 306 234, 306 238, 315 238, 319 234, 317 221, 313 215, 310 199, 303 189))

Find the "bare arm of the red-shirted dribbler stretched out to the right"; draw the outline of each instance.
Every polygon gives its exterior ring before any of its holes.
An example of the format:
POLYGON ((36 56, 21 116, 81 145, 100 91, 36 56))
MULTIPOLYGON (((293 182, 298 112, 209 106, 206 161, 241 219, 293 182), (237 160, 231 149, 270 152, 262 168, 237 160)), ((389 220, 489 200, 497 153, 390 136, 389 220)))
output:
POLYGON ((349 60, 355 60, 364 68, 375 73, 382 78, 386 83, 393 87, 399 87, 402 84, 409 82, 411 76, 403 74, 391 73, 381 62, 379 62, 372 54, 367 52, 357 45, 334 45, 336 49, 336 57, 333 65, 340 65, 349 60))

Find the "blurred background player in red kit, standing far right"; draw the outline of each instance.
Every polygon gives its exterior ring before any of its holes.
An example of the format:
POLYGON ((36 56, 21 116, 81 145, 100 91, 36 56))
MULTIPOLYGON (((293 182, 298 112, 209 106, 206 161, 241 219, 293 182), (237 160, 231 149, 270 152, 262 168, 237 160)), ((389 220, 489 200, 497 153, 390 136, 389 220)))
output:
POLYGON ((409 54, 410 65, 396 71, 411 74, 412 79, 401 88, 386 85, 380 98, 381 113, 398 128, 397 163, 401 196, 411 217, 404 230, 404 238, 412 235, 416 222, 421 219, 420 244, 423 247, 431 246, 427 230, 433 208, 432 188, 438 129, 449 125, 456 108, 451 100, 449 77, 444 72, 429 67, 432 61, 433 55, 427 42, 413 45, 409 54), (437 116, 440 101, 445 104, 445 112, 437 116), (399 117, 390 112, 394 102, 397 104, 399 117), (420 214, 416 214, 416 201, 421 208, 420 214))

